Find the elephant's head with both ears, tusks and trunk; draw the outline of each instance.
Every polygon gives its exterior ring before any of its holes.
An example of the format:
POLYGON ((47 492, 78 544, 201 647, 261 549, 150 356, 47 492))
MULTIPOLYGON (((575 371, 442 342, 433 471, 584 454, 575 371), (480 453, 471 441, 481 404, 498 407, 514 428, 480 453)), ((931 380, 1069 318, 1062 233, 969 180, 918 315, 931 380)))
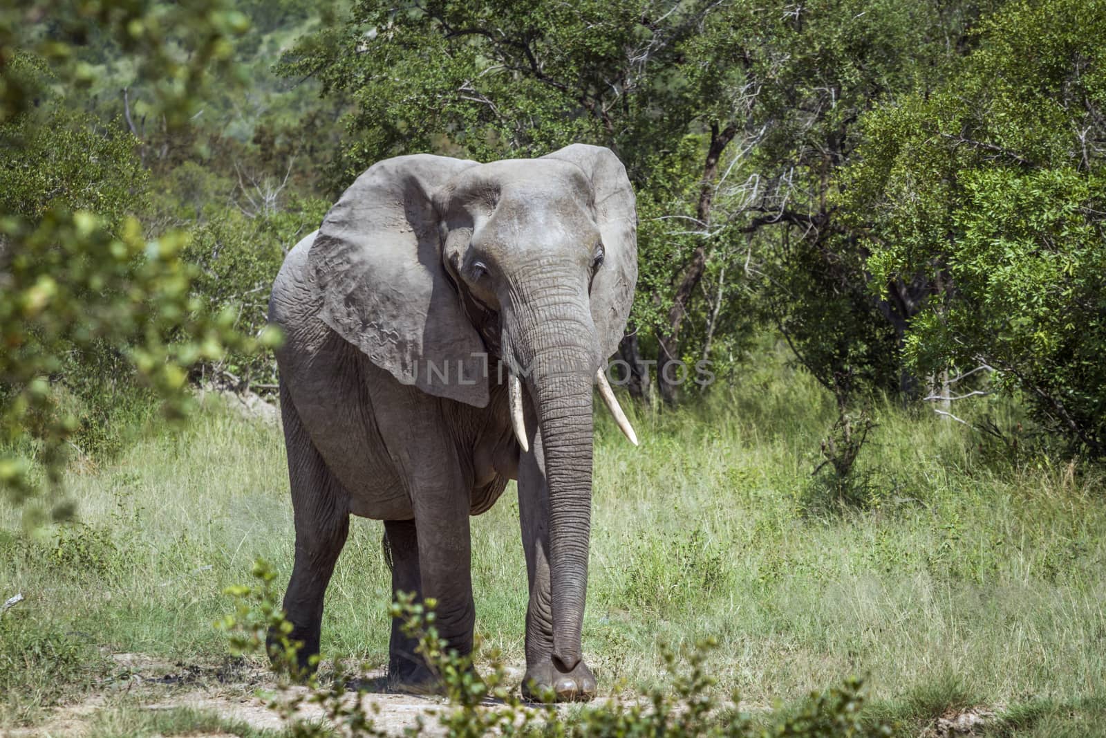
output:
POLYGON ((505 364, 522 451, 529 394, 549 487, 553 656, 574 667, 597 377, 636 443, 601 368, 637 279, 635 198, 622 163, 580 144, 490 164, 387 159, 331 209, 309 259, 323 321, 399 382, 484 407, 488 355, 505 364))

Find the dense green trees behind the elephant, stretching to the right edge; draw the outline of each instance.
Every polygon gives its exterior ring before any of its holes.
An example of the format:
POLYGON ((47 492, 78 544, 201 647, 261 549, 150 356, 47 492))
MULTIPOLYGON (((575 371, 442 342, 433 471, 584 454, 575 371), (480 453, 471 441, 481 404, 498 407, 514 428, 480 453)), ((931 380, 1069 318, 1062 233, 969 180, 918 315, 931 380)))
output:
POLYGON ((768 326, 842 422, 873 392, 960 394, 932 377, 984 363, 991 388, 1102 456, 1104 15, 1078 2, 362 0, 280 69, 351 101, 347 180, 416 150, 616 150, 639 205, 623 345, 635 394, 648 394, 641 358, 710 358, 732 377, 768 326))

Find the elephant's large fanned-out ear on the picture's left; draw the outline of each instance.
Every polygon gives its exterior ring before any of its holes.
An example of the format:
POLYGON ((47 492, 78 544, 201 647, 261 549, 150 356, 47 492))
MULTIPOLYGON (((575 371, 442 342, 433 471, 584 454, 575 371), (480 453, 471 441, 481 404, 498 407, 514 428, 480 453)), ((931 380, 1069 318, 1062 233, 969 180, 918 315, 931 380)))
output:
POLYGON ((476 162, 418 154, 369 167, 311 247, 320 318, 404 384, 488 404, 483 342, 441 261, 435 190, 476 162))

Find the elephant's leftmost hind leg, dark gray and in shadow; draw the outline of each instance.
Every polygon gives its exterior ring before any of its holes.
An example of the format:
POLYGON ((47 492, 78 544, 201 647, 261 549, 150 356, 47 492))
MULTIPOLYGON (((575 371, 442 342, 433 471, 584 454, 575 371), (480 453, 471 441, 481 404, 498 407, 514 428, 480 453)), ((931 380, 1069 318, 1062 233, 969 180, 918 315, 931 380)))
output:
POLYGON ((295 520, 295 563, 284 594, 284 612, 293 625, 290 638, 303 643, 300 667, 313 668, 310 662, 319 653, 323 597, 349 532, 349 503, 283 386, 280 398, 295 520))

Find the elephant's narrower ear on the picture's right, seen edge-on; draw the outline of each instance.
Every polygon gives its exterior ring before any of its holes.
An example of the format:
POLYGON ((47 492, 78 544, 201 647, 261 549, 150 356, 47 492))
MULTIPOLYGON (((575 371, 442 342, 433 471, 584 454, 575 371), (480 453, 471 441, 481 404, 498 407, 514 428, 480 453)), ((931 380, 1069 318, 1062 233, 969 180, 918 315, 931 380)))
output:
POLYGON ((573 144, 543 158, 571 162, 592 183, 603 266, 592 281, 592 320, 606 358, 618 350, 637 284, 637 206, 626 167, 603 146, 573 144))

